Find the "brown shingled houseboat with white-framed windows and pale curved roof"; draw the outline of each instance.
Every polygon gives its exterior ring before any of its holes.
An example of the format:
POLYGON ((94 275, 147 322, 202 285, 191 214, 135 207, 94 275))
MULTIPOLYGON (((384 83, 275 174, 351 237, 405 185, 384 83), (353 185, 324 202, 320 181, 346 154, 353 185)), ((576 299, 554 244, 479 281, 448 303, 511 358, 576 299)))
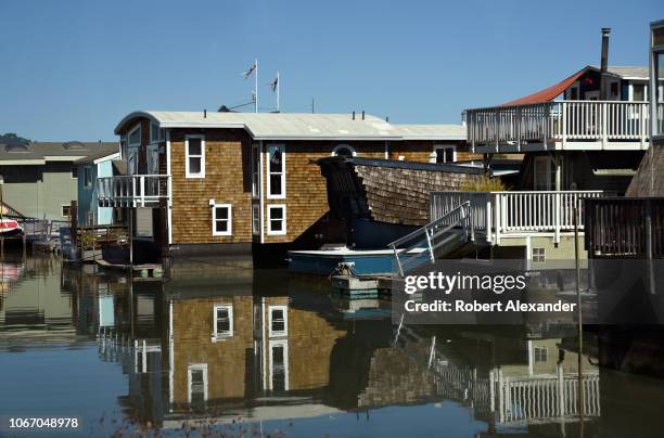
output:
MULTIPOLYGON (((317 159, 478 158, 461 125, 395 125, 360 114, 136 112, 115 129, 126 175, 99 179, 102 207, 162 256, 253 255, 343 240, 317 159)), ((116 172, 119 173, 119 172, 116 172)))

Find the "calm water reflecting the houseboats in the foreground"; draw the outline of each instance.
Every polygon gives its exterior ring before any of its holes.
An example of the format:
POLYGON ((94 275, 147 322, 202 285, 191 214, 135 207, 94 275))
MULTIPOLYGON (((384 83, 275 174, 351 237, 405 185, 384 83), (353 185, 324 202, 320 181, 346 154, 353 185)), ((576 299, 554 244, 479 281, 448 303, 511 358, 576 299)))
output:
POLYGON ((663 434, 664 381, 598 368, 592 331, 579 421, 573 325, 398 327, 386 302, 278 270, 162 284, 35 257, 0 278, 0 436, 663 434))

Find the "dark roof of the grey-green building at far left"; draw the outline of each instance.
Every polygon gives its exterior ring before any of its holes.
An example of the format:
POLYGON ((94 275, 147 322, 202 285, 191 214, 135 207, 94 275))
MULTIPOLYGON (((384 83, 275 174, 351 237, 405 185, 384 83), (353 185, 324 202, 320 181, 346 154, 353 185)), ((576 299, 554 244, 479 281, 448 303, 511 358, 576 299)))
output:
POLYGON ((47 162, 76 162, 78 159, 119 151, 116 142, 30 142, 0 144, 0 166, 40 165, 47 162))

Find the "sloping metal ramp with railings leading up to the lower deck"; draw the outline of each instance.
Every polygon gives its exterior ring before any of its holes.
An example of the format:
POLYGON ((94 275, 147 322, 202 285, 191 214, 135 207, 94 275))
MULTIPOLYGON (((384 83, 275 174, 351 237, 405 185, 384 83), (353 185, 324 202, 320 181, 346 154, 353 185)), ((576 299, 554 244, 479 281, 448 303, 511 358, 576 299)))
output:
POLYGON ((469 241, 475 240, 470 201, 387 246, 394 252, 398 273, 404 276, 425 262, 435 262, 469 241))

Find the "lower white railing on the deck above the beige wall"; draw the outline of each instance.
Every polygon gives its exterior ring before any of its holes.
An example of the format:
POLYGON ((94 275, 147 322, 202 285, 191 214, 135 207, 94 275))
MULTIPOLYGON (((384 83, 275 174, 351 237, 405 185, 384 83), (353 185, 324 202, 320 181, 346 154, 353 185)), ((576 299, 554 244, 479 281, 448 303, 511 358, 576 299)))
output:
POLYGON ((603 192, 547 191, 547 192, 432 192, 431 219, 445 218, 463 203, 470 203, 473 230, 487 242, 500 244, 502 234, 560 233, 574 230, 574 206, 578 207, 578 224, 583 229, 585 197, 600 197, 603 192))

